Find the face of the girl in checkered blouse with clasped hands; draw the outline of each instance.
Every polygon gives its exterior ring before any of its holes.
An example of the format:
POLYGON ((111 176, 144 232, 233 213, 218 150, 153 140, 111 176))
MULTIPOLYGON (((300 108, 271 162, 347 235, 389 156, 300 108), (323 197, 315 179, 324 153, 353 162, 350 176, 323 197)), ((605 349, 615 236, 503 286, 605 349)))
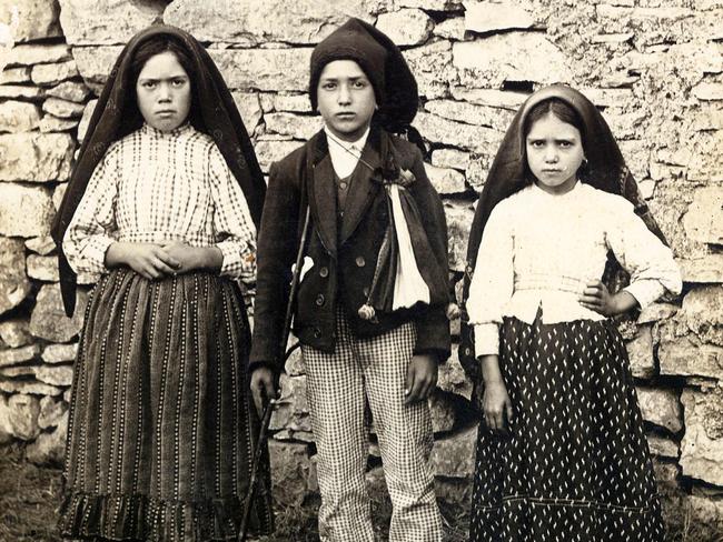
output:
POLYGON ((186 122, 191 82, 176 54, 166 51, 148 59, 136 81, 136 97, 150 127, 169 132, 186 122))

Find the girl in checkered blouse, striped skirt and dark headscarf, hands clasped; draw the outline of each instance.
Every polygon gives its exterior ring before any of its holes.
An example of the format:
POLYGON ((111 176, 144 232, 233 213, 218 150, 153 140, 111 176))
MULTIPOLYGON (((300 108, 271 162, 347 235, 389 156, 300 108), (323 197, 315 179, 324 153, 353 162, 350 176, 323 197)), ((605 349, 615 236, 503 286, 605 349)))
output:
MULTIPOLYGON (((248 490, 249 327, 264 180, 216 67, 152 27, 121 52, 55 227, 63 293, 100 275, 78 359, 63 536, 236 536, 248 490)), ((271 529, 268 465, 251 531, 271 529)))

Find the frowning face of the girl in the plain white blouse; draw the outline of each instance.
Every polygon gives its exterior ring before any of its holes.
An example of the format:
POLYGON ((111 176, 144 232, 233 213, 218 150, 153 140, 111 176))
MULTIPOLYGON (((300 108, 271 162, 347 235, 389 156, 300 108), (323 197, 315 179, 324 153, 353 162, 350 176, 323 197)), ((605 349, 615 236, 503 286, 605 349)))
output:
POLYGON ((575 187, 585 154, 577 128, 549 112, 532 124, 525 143, 527 164, 541 189, 565 193, 575 187))

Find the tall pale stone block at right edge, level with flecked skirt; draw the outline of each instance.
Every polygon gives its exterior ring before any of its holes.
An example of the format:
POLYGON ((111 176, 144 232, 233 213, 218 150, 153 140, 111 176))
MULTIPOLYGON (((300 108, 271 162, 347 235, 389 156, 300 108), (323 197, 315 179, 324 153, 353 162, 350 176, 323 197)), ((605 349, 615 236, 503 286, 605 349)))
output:
POLYGON ((723 485, 723 390, 683 390, 685 435, 681 443, 683 474, 723 485))

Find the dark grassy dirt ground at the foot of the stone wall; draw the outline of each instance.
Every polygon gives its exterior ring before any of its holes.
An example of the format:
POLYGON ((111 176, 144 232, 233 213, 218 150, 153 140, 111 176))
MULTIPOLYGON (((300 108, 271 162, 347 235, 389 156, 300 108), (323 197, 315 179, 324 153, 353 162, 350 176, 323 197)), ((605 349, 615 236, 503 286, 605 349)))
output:
MULTIPOLYGON (((386 492, 372 489, 373 513, 380 541, 387 540, 390 503, 386 492)), ((60 501, 60 470, 39 468, 23 459, 20 446, 0 449, 0 542, 60 542, 56 532, 56 506, 60 501)), ((257 542, 316 542, 318 500, 301 506, 276 510, 277 531, 257 542)), ((467 540, 468 511, 444 506, 445 542, 467 540)), ((723 542, 723 533, 703 532, 680 518, 668 525, 666 542, 723 542)))

